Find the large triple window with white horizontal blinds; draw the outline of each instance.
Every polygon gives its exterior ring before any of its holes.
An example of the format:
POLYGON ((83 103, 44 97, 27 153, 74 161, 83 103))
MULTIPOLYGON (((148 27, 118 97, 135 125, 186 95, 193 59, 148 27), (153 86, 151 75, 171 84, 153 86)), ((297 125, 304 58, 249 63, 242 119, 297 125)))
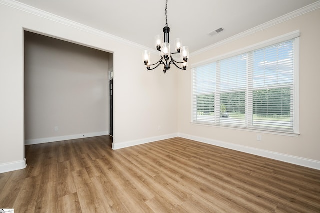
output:
POLYGON ((297 133, 298 35, 291 37, 193 67, 192 122, 297 133))

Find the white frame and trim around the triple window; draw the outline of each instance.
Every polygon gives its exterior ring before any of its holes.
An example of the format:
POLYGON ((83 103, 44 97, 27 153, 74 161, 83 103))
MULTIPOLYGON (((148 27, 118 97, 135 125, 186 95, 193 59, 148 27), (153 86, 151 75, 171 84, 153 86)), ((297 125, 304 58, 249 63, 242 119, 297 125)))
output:
MULTIPOLYGON (((257 43, 257 44, 253 44, 235 51, 231 51, 228 52, 226 54, 223 55, 219 55, 217 57, 214 58, 210 58, 204 61, 200 61, 198 63, 194 63, 191 65, 191 124, 196 124, 196 125, 208 125, 208 126, 215 126, 215 127, 221 127, 221 128, 231 128, 231 129, 241 129, 241 130, 246 130, 246 131, 254 131, 254 132, 267 132, 267 133, 274 133, 274 134, 280 134, 280 135, 289 135, 289 136, 298 136, 299 135, 299 36, 300 36, 300 32, 299 30, 275 37, 275 38, 271 38, 268 39, 266 41, 257 43), (194 120, 194 112, 196 111, 194 109, 194 107, 196 107, 196 102, 194 102, 193 98, 194 98, 194 94, 193 94, 193 89, 194 89, 194 85, 193 85, 193 69, 202 65, 207 65, 209 63, 213 63, 213 62, 217 62, 226 58, 231 58, 233 56, 237 56, 240 54, 244 54, 253 50, 258 50, 261 48, 265 48, 267 46, 270 45, 274 45, 277 43, 281 43, 281 42, 285 42, 288 40, 293 40, 293 51, 294 51, 294 58, 293 58, 293 66, 294 66, 294 73, 293 73, 293 130, 292 131, 282 131, 282 130, 272 130, 272 129, 267 129, 267 128, 256 128, 256 127, 252 127, 250 125, 246 125, 246 127, 241 127, 241 126, 236 126, 236 125, 223 125, 221 123, 215 123, 212 121, 209 122, 205 122, 205 121, 197 121, 194 120)), ((248 81, 248 76, 246 76, 247 81, 248 81)), ((216 83, 219 83, 218 81, 216 83)), ((248 92, 248 83, 246 86, 246 92, 248 92)), ((215 101, 219 101, 219 97, 217 97, 217 91, 214 91, 214 96, 215 96, 215 101)), ((247 97, 247 96, 246 96, 247 97)), ((219 106, 214 105, 214 108, 216 109, 215 111, 215 118, 214 120, 217 119, 217 117, 219 117, 219 106)), ((250 113, 248 112, 248 100, 246 98, 245 100, 245 110, 246 110, 246 114, 250 113)), ((248 115, 246 115, 248 118, 248 115)))

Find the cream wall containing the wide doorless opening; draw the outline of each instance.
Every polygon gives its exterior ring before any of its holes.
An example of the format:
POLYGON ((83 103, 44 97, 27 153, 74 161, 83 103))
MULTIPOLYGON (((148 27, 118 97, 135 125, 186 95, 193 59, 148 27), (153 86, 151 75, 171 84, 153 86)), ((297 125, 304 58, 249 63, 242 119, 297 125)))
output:
POLYGON ((176 134, 176 72, 147 72, 144 47, 8 2, 0 1, 0 172, 24 166, 23 28, 114 53, 114 148, 176 134))

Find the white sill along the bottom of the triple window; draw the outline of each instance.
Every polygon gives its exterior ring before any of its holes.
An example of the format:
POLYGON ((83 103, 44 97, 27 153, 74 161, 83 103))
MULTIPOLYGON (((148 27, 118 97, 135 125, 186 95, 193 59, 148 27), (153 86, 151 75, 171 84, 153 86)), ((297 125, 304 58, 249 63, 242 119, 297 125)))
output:
POLYGON ((248 132, 284 135, 284 136, 291 136, 291 137, 298 137, 300 135, 300 133, 295 133, 295 132, 281 132, 281 131, 274 131, 274 130, 252 129, 252 128, 244 128, 244 127, 227 126, 227 125, 216 125, 216 124, 205 123, 205 122, 190 122, 190 123, 192 125, 198 125, 198 126, 209 126, 209 127, 217 127, 217 128, 224 128, 224 129, 242 130, 242 131, 248 131, 248 132))

